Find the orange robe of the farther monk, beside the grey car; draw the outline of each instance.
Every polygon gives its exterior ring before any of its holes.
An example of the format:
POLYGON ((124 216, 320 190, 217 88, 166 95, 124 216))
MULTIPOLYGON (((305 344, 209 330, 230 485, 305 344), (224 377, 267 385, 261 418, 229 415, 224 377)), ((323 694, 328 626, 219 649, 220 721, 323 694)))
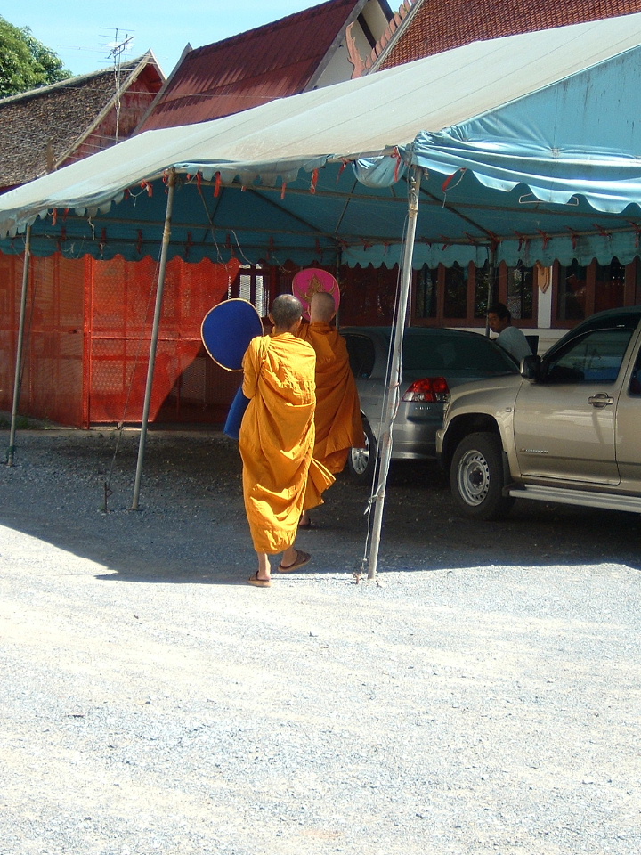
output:
POLYGON ((329 323, 304 323, 299 338, 316 354, 316 442, 313 456, 330 472, 342 472, 350 448, 363 448, 361 403, 345 338, 329 323))

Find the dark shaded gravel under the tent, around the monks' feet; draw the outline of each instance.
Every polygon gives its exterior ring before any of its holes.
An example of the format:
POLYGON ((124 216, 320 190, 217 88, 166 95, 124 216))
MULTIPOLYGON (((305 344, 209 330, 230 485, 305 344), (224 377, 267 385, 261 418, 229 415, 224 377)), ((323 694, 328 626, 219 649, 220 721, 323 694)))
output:
MULTIPOLYGON (((238 449, 219 432, 150 432, 141 509, 129 509, 138 437, 115 431, 34 431, 17 465, 0 468, 0 524, 93 561, 96 576, 129 582, 246 584, 255 569, 238 449), (103 512, 104 484, 113 493, 103 512)), ((6 442, 6 439, 5 439, 6 442)), ((309 571, 361 569, 369 490, 347 476, 299 534, 309 571)), ((458 517, 431 463, 395 464, 385 499, 378 568, 401 572, 478 566, 613 563, 641 569, 637 515, 516 502, 509 517, 458 517)))

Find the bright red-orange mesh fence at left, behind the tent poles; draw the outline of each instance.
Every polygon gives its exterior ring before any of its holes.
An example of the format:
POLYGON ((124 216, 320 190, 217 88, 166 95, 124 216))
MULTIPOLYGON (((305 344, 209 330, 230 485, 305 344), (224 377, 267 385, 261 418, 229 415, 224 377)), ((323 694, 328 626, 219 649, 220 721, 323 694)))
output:
MULTIPOLYGON (((227 296, 238 263, 204 260, 166 266, 150 420, 189 416, 183 373, 202 352, 200 324, 227 296), (173 396, 173 397, 172 397, 173 396)), ((0 408, 12 406, 22 259, 0 255, 0 408)), ((20 412, 66 425, 139 422, 147 380, 158 265, 150 258, 32 258, 23 348, 20 412)), ((204 362, 204 356, 200 355, 204 362)), ((234 381, 233 390, 238 385, 234 381)), ((188 390, 189 391, 189 390, 188 390)), ((222 408, 210 388, 201 420, 220 419, 233 391, 223 382, 222 408)))

